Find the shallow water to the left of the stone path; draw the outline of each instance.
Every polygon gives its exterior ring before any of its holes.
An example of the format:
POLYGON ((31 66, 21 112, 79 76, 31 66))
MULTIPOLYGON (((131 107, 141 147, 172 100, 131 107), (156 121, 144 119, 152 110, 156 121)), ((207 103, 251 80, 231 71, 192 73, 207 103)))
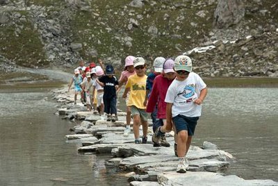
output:
POLYGON ((0 93, 0 185, 128 185, 104 161, 67 144, 74 123, 54 115, 47 92, 0 93))

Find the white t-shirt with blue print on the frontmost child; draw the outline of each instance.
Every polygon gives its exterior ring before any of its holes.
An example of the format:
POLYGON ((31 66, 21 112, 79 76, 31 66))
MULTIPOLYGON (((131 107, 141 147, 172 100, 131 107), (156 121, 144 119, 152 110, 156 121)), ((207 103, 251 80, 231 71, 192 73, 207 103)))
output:
POLYGON ((183 81, 174 79, 167 90, 166 103, 173 103, 172 117, 184 115, 186 117, 199 117, 202 113, 202 105, 193 103, 199 97, 199 93, 206 87, 206 83, 195 72, 190 72, 188 78, 183 81))

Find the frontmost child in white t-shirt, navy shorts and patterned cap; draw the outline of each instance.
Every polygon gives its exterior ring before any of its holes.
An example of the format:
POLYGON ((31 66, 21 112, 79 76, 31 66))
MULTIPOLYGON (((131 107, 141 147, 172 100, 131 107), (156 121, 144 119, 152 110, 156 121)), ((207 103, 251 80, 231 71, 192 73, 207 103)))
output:
POLYGON ((197 120, 202 113, 202 102, 207 94, 207 87, 202 78, 192 72, 192 61, 188 56, 178 56, 174 60, 177 78, 167 90, 166 126, 159 127, 153 135, 157 141, 163 133, 172 129, 172 122, 177 130, 177 153, 179 164, 177 172, 185 173, 189 168, 186 158, 194 135, 197 120))

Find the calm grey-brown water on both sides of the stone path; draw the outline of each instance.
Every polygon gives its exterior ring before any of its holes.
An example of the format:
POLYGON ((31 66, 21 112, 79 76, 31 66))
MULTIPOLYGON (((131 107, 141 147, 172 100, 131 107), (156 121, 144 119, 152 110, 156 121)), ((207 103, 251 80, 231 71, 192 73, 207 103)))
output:
MULTIPOLYGON (((278 181, 277 96, 277 88, 209 89, 193 145, 213 142, 234 155, 227 174, 278 181)), ((129 185, 106 169, 109 155, 82 155, 65 142, 75 124, 54 115, 56 105, 49 90, 0 92, 0 185, 129 185)))

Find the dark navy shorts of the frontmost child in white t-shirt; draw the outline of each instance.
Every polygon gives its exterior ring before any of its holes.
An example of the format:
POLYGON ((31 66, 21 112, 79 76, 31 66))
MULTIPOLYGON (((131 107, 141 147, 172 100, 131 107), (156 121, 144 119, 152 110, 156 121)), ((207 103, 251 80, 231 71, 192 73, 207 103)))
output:
POLYGON ((194 135, 198 119, 199 117, 186 117, 183 115, 177 115, 173 117, 173 123, 176 127, 177 133, 179 133, 181 130, 187 130, 188 135, 194 135))

